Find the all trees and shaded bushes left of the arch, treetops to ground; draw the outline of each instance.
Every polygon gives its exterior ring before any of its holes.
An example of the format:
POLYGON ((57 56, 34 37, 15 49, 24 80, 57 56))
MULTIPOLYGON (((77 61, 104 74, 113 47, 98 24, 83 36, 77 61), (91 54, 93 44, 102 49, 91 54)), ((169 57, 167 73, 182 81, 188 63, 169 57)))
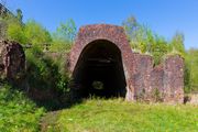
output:
POLYGON ((24 90, 37 105, 46 109, 58 109, 61 99, 69 91, 66 69, 66 53, 70 50, 76 35, 73 20, 61 23, 56 32, 50 33, 34 20, 22 22, 22 11, 16 16, 4 15, 4 38, 16 41, 23 45, 26 57, 26 82, 24 90))

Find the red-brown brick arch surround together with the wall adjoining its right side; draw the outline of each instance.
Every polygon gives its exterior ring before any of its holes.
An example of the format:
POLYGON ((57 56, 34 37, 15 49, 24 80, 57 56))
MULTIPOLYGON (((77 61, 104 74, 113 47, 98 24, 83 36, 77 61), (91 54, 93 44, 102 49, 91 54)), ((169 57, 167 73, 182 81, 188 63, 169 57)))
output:
POLYGON ((168 56, 153 67, 148 55, 132 53, 121 26, 94 24, 80 28, 69 54, 69 70, 79 67, 80 54, 97 40, 112 42, 120 51, 127 81, 127 100, 148 100, 182 103, 184 99, 184 61, 178 55, 168 56))

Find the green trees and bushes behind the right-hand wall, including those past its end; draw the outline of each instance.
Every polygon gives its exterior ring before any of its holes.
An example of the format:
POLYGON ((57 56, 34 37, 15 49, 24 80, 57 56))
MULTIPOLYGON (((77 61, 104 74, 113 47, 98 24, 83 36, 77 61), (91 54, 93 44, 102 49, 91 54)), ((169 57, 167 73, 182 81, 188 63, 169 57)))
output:
POLYGON ((176 32, 170 41, 154 33, 150 28, 140 24, 134 16, 123 21, 122 26, 128 34, 131 47, 134 52, 148 54, 154 57, 154 65, 158 65, 166 55, 178 54, 185 58, 185 92, 198 91, 197 52, 186 51, 184 34, 176 32))

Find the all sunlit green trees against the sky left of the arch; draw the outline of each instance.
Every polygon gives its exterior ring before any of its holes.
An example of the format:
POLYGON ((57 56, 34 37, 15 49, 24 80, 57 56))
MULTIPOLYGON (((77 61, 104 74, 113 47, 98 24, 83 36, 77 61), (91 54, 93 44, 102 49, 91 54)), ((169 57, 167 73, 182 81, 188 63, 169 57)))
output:
POLYGON ((45 45, 50 45, 51 52, 68 52, 70 50, 77 33, 74 20, 69 19, 65 23, 61 23, 56 32, 51 35, 40 23, 34 20, 23 23, 22 18, 20 9, 16 10, 16 16, 1 18, 0 22, 6 23, 2 29, 6 33, 1 33, 1 37, 20 44, 37 45, 41 50, 44 50, 45 45))

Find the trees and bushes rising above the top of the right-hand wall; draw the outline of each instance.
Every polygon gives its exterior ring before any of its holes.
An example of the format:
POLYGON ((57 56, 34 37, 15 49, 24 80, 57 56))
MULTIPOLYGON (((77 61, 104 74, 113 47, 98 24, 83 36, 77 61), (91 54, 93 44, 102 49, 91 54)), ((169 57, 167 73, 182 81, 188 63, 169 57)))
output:
POLYGON ((134 16, 124 20, 122 26, 128 34, 132 50, 152 55, 155 65, 161 63, 163 56, 173 52, 180 54, 183 57, 185 56, 183 33, 177 32, 172 41, 166 41, 150 28, 140 24, 134 16))

